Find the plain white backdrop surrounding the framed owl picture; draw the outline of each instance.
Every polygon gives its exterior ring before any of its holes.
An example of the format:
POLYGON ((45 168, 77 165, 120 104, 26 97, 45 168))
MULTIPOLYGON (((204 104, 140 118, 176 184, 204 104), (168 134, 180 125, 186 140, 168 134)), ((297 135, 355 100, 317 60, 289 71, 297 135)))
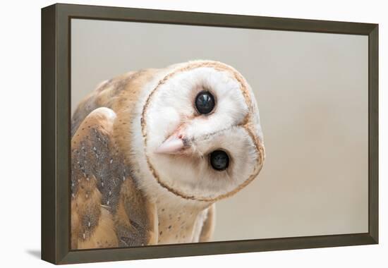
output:
MULTIPOLYGON (((139 260, 75 267, 385 267, 387 265, 388 47, 384 1, 66 1, 183 11, 380 23, 380 245, 139 260), (385 105, 384 105, 385 104, 385 105)), ((1 262, 40 260, 40 8, 53 1, 1 5, 1 262)))

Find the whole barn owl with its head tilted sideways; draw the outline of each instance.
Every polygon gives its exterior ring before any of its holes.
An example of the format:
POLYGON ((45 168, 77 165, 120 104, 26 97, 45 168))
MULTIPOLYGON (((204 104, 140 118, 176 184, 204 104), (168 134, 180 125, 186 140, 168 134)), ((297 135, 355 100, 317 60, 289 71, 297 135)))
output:
POLYGON ((214 202, 253 181, 265 157, 253 92, 217 61, 103 82, 71 136, 73 249, 208 241, 214 202))

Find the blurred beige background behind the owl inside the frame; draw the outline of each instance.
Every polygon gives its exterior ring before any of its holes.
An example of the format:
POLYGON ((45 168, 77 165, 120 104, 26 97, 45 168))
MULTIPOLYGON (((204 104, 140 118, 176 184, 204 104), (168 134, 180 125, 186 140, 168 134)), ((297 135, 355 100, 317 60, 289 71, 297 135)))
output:
POLYGON ((102 80, 190 59, 253 87, 267 158, 217 203, 214 240, 368 231, 368 37, 72 20, 72 109, 102 80))

